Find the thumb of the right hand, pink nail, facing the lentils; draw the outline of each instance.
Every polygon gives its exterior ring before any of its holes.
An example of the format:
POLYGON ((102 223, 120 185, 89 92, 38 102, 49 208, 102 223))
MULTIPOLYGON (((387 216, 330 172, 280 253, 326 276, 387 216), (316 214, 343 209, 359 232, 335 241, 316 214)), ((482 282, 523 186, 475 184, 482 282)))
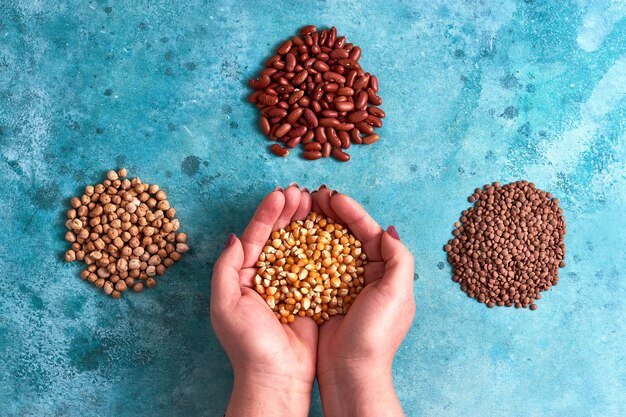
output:
POLYGON ((413 255, 411 252, 400 240, 385 232, 381 239, 380 253, 385 262, 385 274, 381 284, 394 292, 413 294, 413 255))

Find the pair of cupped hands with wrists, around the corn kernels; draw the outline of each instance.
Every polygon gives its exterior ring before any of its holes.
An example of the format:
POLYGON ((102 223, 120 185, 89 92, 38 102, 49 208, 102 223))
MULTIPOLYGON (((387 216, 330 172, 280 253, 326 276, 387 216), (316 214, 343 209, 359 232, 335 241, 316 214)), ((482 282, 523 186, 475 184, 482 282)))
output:
POLYGON ((277 188, 241 238, 230 234, 213 270, 211 322, 234 371, 226 416, 308 416, 316 376, 326 417, 404 415, 391 367, 414 312, 413 256, 393 226, 383 231, 357 202, 323 185, 277 188), (311 211, 362 242, 365 286, 346 315, 322 326, 309 317, 281 324, 254 290, 255 263, 273 230, 311 211))

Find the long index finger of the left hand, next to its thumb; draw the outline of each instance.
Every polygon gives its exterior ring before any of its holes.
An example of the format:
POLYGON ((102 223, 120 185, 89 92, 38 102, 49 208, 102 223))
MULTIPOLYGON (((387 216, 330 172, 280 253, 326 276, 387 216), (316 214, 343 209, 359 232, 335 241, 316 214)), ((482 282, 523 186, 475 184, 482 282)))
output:
POLYGON ((263 250, 265 242, 272 233, 274 223, 278 220, 285 206, 285 196, 280 190, 272 191, 261 201, 256 209, 252 220, 241 235, 241 243, 244 252, 244 268, 255 264, 257 257, 263 250))

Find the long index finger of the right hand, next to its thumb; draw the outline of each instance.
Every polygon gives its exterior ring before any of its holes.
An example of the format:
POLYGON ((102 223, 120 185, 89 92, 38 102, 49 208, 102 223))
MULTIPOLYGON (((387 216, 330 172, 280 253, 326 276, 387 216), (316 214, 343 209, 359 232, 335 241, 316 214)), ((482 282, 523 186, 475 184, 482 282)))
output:
POLYGON ((334 194, 330 204, 338 220, 347 226, 363 244, 369 261, 380 261, 380 237, 383 229, 356 201, 343 194, 334 194))

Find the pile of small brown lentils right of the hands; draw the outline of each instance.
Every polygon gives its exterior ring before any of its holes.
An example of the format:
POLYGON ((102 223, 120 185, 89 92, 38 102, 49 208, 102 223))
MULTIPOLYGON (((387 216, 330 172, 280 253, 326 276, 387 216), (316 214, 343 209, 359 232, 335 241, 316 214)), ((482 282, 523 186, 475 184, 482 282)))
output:
POLYGON ((444 250, 453 280, 488 307, 535 310, 541 291, 565 267, 565 220, 559 200, 535 184, 487 184, 468 198, 474 206, 455 224, 444 250))

